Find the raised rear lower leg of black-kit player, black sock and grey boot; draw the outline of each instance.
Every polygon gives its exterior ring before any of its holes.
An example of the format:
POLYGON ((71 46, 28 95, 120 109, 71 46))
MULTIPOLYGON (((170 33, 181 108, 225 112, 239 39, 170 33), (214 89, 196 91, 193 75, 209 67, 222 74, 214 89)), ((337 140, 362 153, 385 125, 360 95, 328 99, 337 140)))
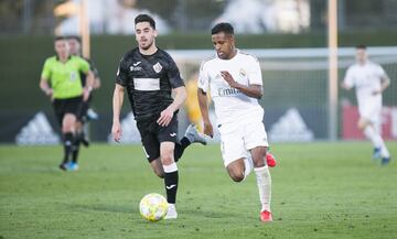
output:
POLYGON ((206 145, 206 140, 202 133, 198 132, 196 126, 190 124, 185 131, 184 137, 180 140, 180 143, 175 143, 174 159, 175 162, 182 157, 184 150, 192 143, 201 143, 206 145))

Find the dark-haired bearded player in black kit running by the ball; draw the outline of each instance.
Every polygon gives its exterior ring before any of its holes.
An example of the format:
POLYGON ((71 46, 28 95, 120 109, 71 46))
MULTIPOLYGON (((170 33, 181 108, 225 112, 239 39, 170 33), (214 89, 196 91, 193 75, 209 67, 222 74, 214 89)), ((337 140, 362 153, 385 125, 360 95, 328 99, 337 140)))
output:
POLYGON ((205 144, 205 139, 191 124, 185 135, 178 139, 178 110, 186 99, 183 79, 171 56, 155 45, 155 22, 147 14, 135 19, 138 47, 127 52, 119 64, 112 98, 111 133, 121 139, 119 121, 127 89, 144 153, 154 173, 164 178, 169 211, 165 219, 176 219, 178 160, 193 142, 205 144), (171 94, 174 93, 174 98, 171 94))

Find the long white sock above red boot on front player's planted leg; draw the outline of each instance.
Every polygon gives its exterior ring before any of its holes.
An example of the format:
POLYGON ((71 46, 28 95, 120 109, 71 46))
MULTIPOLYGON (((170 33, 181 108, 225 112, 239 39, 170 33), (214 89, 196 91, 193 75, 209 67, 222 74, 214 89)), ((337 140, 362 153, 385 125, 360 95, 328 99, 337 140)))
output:
POLYGON ((269 167, 267 165, 262 167, 255 167, 255 174, 257 176, 257 185, 259 189, 259 199, 261 203, 261 210, 270 211, 271 200, 271 176, 269 167))

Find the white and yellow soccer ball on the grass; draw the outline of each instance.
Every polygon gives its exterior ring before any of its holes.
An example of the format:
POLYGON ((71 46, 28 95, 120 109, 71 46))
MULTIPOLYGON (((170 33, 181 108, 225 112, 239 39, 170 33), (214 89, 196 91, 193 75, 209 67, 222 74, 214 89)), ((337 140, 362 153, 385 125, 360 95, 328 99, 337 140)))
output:
POLYGON ((165 217, 168 211, 167 199, 160 194, 147 194, 139 203, 139 211, 150 221, 158 221, 165 217))

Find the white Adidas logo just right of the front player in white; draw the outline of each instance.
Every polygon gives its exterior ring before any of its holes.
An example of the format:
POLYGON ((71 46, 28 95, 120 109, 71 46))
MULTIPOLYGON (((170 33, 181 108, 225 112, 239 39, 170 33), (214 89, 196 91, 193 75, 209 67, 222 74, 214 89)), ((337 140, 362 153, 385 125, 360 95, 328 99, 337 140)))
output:
POLYGON ((312 141, 314 135, 308 129, 298 109, 291 108, 270 127, 269 139, 272 142, 312 141))

